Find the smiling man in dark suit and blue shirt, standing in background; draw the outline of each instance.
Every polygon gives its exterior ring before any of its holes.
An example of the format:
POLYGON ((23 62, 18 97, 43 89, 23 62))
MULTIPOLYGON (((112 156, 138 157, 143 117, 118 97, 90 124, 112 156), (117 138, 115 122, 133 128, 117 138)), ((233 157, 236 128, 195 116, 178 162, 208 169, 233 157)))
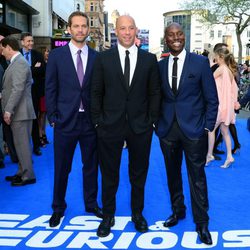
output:
MULTIPOLYGON (((29 62, 32 72, 33 84, 31 87, 32 102, 35 109, 36 117, 38 117, 39 111, 39 99, 41 96, 40 85, 44 81, 45 77, 45 62, 43 55, 33 49, 34 39, 31 33, 23 32, 21 34, 22 49, 20 52, 29 62)), ((39 138, 39 127, 37 118, 33 120, 32 124, 32 142, 33 142, 33 153, 35 155, 41 155, 40 151, 40 138, 39 138)))

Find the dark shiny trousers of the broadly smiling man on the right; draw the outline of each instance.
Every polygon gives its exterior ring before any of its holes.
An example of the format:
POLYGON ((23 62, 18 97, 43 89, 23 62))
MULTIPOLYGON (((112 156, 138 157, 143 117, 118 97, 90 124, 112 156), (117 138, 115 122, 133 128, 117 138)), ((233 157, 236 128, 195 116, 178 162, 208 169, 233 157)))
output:
POLYGON ((173 212, 181 215, 186 210, 181 173, 184 152, 194 222, 196 224, 208 223, 208 194, 204 170, 208 147, 207 133, 204 130, 201 138, 191 140, 182 133, 175 121, 167 137, 160 139, 160 145, 166 165, 173 212))

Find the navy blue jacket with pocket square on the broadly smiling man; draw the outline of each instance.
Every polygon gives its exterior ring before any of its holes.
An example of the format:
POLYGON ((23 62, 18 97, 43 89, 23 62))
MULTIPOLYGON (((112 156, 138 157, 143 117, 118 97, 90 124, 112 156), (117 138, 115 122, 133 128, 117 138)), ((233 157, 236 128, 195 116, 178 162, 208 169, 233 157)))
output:
POLYGON ((218 96, 208 59, 187 52, 175 96, 168 81, 169 58, 159 62, 162 78, 161 114, 156 133, 167 136, 174 116, 189 139, 198 139, 204 129, 212 131, 218 112, 218 96))

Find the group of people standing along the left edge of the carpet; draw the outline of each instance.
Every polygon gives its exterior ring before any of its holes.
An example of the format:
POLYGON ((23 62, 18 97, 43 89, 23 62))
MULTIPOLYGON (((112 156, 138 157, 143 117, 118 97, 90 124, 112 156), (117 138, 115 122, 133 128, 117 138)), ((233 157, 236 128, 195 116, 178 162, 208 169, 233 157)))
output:
POLYGON ((18 164, 18 169, 15 175, 5 179, 12 186, 23 186, 36 182, 32 153, 40 156, 40 147, 49 143, 45 133, 46 58, 33 49, 33 36, 28 32, 21 34, 21 48, 12 36, 1 36, 0 43, 0 144, 4 145, 0 150, 0 167, 4 167, 4 155, 8 153, 12 162, 18 164), (40 119, 42 115, 43 119, 40 119), (37 118, 43 123, 38 123, 37 118))

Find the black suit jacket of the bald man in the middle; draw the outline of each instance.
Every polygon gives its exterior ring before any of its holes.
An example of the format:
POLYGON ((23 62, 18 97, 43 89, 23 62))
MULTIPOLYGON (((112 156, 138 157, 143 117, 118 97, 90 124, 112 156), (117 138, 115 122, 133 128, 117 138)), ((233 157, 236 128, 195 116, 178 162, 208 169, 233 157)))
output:
POLYGON ((138 49, 130 87, 126 87, 118 48, 97 56, 91 82, 91 117, 98 135, 122 133, 128 121, 139 134, 157 121, 160 108, 160 76, 156 56, 138 49))

